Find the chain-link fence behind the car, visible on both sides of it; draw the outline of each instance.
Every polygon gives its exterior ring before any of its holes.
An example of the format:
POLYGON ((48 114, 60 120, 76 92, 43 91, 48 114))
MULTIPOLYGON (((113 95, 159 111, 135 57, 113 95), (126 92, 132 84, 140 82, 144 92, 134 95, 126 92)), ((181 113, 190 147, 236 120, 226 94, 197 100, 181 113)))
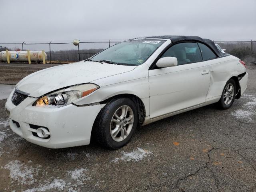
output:
MULTIPOLYGON (((0 51, 8 50, 45 50, 47 63, 76 62, 85 60, 94 54, 120 41, 81 41, 78 46, 72 42, 20 42, 0 43, 0 51)), ((256 62, 256 41, 214 41, 226 53, 245 62, 256 62)))

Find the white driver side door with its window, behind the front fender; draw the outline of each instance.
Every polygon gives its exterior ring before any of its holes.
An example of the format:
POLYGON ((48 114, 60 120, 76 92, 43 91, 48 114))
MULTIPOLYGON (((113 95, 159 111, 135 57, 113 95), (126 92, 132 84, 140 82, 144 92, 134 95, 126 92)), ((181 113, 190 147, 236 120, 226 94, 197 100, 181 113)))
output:
POLYGON ((156 118, 206 102, 210 86, 207 61, 196 42, 171 46, 162 57, 176 57, 177 66, 149 70, 150 118, 156 118))

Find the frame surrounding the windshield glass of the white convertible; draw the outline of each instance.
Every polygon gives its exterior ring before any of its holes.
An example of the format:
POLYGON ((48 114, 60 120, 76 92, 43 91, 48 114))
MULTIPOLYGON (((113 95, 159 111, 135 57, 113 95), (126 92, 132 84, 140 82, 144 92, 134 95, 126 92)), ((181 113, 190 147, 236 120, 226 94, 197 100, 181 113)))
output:
MULTIPOLYGON (((126 65, 126 66, 140 66, 140 65, 144 64, 144 63, 156 52, 156 50, 158 50, 161 46, 163 46, 163 44, 165 44, 166 41, 167 41, 167 39, 160 39, 160 38, 136 38, 136 39, 129 39, 129 40, 125 40, 125 41, 122 41, 122 42, 118 42, 118 43, 116 43, 116 44, 114 44, 114 45, 112 45, 112 46, 115 46, 115 45, 120 44, 120 43, 123 43, 123 42, 132 42, 132 41, 138 41, 138 40, 161 40, 161 41, 163 41, 163 43, 162 43, 158 48, 156 48, 156 49, 150 54, 150 56, 148 56, 148 58, 146 58, 146 60, 144 60, 143 63, 141 63, 141 64, 139 64, 139 65, 136 65, 136 64, 128 64, 128 63, 120 63, 120 62, 118 62, 118 63, 116 63, 116 64, 119 64, 119 65, 126 65)), ((110 46, 110 47, 112 47, 112 46, 110 46)), ((108 48, 110 48, 110 47, 108 47, 108 48)), ((107 50, 108 48, 106 48, 106 49, 104 49, 104 50, 98 52, 97 54, 91 56, 90 58, 88 58, 88 59, 86 59, 86 60, 84 60, 84 61, 99 62, 99 61, 94 61, 94 60, 92 60, 92 58, 95 57, 96 55, 100 54, 101 52, 107 50)), ((109 63, 108 63, 108 64, 109 64, 109 63)))

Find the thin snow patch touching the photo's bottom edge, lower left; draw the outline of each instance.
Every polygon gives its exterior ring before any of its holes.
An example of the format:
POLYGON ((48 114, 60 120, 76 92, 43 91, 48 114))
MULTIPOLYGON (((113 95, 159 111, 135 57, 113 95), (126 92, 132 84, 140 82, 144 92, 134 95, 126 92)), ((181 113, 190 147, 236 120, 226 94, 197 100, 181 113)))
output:
POLYGON ((66 183, 62 179, 54 179, 52 183, 45 184, 41 187, 38 188, 33 188, 33 189, 28 189, 24 192, 42 192, 42 191, 56 191, 56 190, 63 190, 64 187, 66 186, 66 183), (56 190, 51 190, 51 189, 56 189, 56 190))

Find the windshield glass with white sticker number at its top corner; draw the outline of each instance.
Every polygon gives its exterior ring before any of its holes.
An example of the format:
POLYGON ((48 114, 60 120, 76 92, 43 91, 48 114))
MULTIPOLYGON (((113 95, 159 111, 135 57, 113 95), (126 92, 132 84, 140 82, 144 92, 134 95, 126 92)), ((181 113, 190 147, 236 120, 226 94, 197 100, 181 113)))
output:
POLYGON ((140 65, 144 63, 165 40, 130 40, 118 43, 90 58, 121 65, 140 65))

